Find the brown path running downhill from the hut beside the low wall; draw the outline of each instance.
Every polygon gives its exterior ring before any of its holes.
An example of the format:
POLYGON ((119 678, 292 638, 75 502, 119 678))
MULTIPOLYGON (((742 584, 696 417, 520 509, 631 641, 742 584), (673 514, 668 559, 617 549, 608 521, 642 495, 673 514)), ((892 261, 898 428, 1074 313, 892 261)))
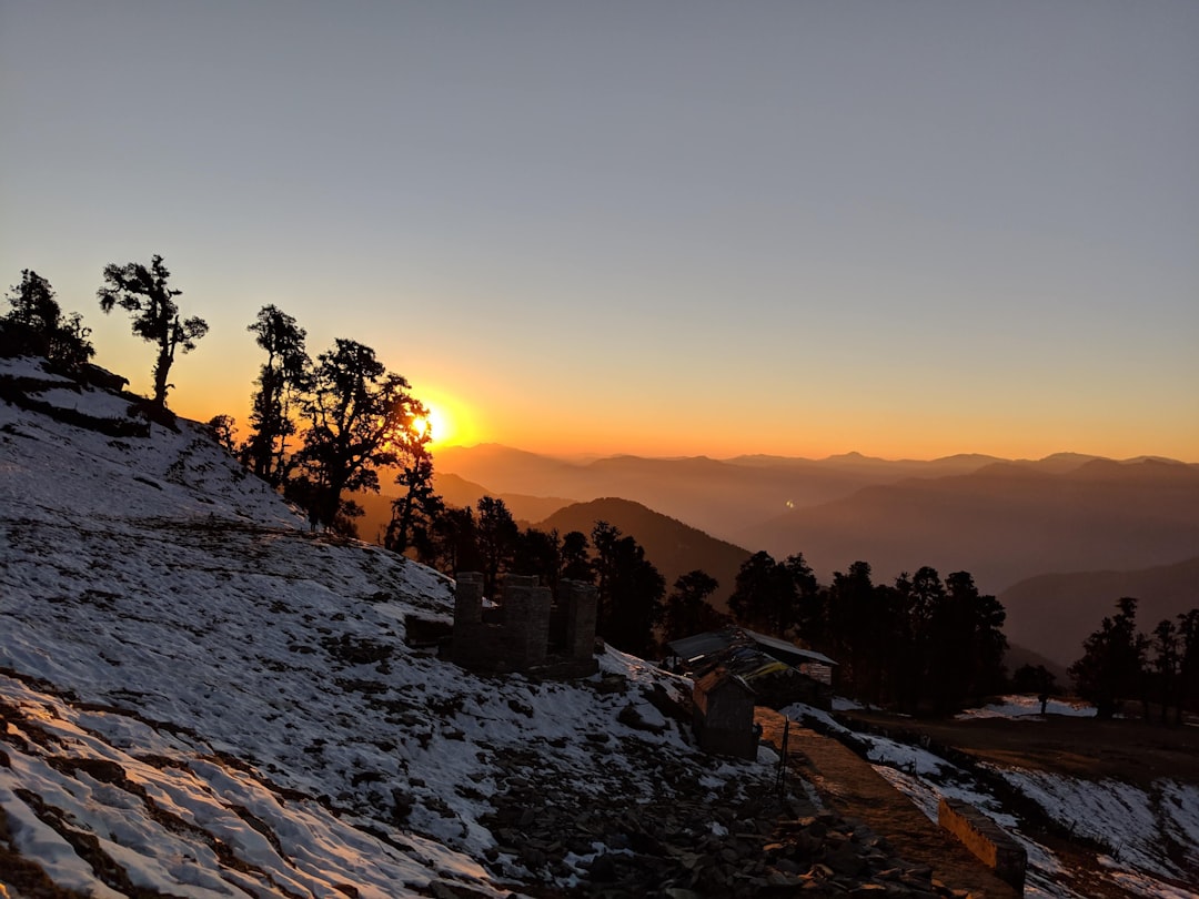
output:
MULTIPOLYGON (((763 726, 763 736, 777 748, 783 716, 759 707, 755 720, 763 726)), ((788 756, 790 770, 812 783, 831 809, 866 823, 908 861, 927 864, 934 879, 953 889, 969 891, 976 899, 1019 895, 836 740, 791 722, 788 756)))

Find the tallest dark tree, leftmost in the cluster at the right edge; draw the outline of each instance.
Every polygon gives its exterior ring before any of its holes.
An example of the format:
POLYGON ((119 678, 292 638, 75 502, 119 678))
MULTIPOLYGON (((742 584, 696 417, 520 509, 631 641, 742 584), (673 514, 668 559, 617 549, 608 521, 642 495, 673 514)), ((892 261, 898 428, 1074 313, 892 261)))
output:
POLYGON ((1137 601, 1123 597, 1086 640, 1083 657, 1070 666, 1078 694, 1093 702, 1099 718, 1111 718, 1125 699, 1139 693, 1147 640, 1137 633, 1137 601))

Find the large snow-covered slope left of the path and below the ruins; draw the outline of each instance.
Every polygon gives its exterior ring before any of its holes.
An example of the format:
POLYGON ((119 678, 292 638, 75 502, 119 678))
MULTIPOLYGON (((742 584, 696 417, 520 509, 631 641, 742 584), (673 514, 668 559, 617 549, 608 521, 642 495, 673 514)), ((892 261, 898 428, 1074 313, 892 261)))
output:
POLYGON ((502 894, 586 862, 535 869, 498 841, 514 785, 578 806, 772 778, 698 754, 650 702, 685 684, 638 659, 536 683, 409 648, 405 616, 448 621, 451 585, 309 533, 201 426, 139 436, 127 398, 30 360, 0 360, 0 386, 13 895, 502 894))

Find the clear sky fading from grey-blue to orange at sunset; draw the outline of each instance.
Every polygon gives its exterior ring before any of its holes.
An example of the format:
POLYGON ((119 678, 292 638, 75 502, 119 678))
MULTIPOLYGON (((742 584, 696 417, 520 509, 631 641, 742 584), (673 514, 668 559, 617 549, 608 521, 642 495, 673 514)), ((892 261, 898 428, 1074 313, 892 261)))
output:
POLYGON ((161 254, 444 444, 1199 461, 1199 4, 0 0, 0 286, 161 254))

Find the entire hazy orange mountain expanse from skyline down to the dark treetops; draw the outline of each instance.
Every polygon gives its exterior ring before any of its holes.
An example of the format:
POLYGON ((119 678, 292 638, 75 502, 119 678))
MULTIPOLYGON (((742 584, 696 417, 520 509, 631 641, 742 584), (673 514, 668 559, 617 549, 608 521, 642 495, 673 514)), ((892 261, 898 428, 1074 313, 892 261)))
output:
POLYGON ((1199 465, 1170 459, 849 453, 576 463, 482 445, 442 450, 435 463, 451 501, 500 496, 518 519, 560 532, 589 532, 602 518, 646 548, 668 586, 692 568, 716 577, 722 608, 734 586, 724 573, 735 575, 735 560, 759 549, 776 559, 802 553, 823 581, 857 560, 876 581, 924 565, 969 571, 1010 604, 1013 642, 1068 664, 1121 596, 1141 599, 1146 630, 1199 604, 1199 465), (561 511, 547 514, 550 507, 561 511), (705 543, 694 530, 717 539, 705 543))

